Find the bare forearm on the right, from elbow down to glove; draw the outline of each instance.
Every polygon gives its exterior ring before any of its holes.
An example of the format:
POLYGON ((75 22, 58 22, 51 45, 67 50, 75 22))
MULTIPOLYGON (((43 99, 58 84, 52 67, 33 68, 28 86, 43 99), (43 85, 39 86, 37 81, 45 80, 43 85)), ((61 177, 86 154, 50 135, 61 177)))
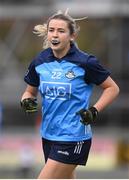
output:
POLYGON ((99 112, 102 111, 106 106, 112 103, 112 101, 117 97, 118 94, 119 88, 117 86, 104 89, 99 100, 94 104, 94 107, 99 112))

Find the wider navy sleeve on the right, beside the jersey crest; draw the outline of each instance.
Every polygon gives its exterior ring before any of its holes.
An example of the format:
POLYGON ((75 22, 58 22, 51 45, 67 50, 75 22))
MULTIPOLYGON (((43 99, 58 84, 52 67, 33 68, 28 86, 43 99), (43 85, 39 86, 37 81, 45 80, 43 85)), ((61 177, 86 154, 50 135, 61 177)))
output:
POLYGON ((85 70, 85 80, 87 83, 100 85, 110 76, 110 72, 92 55, 90 55, 86 61, 85 70))

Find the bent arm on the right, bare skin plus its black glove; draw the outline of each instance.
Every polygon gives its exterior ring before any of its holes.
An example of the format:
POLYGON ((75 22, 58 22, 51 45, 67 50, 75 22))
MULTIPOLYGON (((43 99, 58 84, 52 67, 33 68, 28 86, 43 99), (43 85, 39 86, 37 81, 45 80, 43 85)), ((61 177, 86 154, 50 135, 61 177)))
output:
POLYGON ((81 123, 84 125, 93 123, 98 116, 98 112, 111 104, 119 94, 119 87, 110 76, 100 85, 100 87, 103 89, 103 92, 93 107, 90 107, 88 110, 81 109, 77 112, 80 114, 81 123))

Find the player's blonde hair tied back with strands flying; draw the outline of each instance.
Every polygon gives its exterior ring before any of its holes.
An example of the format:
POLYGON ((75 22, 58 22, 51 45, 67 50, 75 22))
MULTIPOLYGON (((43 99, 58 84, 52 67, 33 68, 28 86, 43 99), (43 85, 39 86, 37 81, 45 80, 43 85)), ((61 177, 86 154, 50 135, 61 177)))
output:
POLYGON ((61 20, 66 21, 68 23, 70 34, 73 34, 73 33, 78 33, 80 30, 80 27, 76 24, 76 21, 84 20, 86 18, 87 17, 73 19, 68 14, 68 9, 66 9, 64 13, 61 10, 59 10, 56 14, 49 17, 47 23, 36 25, 34 27, 33 33, 38 36, 43 37, 43 49, 46 49, 49 47, 49 42, 47 40, 47 31, 48 31, 49 22, 52 19, 61 19, 61 20))

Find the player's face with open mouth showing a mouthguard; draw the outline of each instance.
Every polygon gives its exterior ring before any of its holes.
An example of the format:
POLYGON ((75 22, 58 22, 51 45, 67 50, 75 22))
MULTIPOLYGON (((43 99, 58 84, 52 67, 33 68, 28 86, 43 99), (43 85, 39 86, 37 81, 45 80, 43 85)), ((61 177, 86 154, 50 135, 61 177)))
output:
POLYGON ((70 34, 66 21, 52 19, 49 22, 47 39, 53 52, 63 54, 69 50, 70 40, 74 37, 70 34))

